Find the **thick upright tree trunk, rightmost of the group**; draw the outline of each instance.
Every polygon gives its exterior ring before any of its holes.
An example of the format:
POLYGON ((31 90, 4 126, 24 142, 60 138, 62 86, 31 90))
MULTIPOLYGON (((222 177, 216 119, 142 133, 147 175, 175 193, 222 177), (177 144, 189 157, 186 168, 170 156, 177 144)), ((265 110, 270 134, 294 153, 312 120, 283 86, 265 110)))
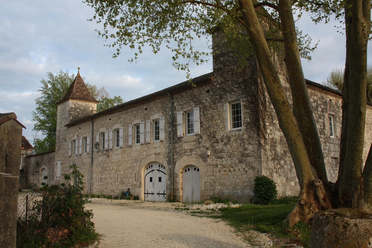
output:
MULTIPOLYGON (((350 14, 350 32, 349 39, 347 39, 350 42, 346 44, 349 55, 346 61, 349 96, 348 109, 346 109, 347 112, 344 112, 343 117, 347 118, 347 129, 343 130, 346 131, 347 137, 346 144, 341 144, 344 149, 344 158, 339 172, 338 204, 340 207, 358 207, 361 194, 363 194, 360 166, 366 117, 367 43, 371 30, 371 1, 347 1, 346 18, 350 14), (351 13, 348 6, 351 6, 351 13)), ((347 89, 344 88, 345 90, 347 89)), ((345 142, 345 140, 341 140, 341 142, 345 142)))

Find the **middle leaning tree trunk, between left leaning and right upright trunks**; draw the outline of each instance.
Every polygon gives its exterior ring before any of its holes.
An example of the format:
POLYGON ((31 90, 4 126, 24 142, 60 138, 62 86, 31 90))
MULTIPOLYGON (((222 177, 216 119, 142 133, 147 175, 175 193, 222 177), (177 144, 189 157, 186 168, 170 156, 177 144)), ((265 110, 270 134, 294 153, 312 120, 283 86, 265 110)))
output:
POLYGON ((328 185, 318 128, 312 113, 310 96, 302 71, 296 27, 292 14, 292 1, 279 0, 278 7, 284 38, 285 64, 292 93, 293 113, 307 148, 314 177, 321 179, 324 185, 328 185))

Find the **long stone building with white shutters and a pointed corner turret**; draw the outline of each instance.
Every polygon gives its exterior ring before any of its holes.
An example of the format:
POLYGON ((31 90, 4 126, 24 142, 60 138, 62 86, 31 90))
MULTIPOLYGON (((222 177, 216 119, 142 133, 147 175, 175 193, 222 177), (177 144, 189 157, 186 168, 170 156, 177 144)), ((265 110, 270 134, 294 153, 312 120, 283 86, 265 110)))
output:
MULTIPOLYGON (((214 44, 221 44, 218 36, 214 44)), ((38 157, 48 160, 43 162, 48 178, 58 182, 74 161, 86 193, 118 195, 130 188, 141 200, 190 202, 218 195, 249 201, 254 178, 266 175, 279 195, 297 195, 294 165, 256 59, 249 57, 246 67, 237 69, 231 53, 216 45, 214 51, 212 73, 99 113, 78 71, 58 102, 55 153, 38 157)), ((275 61, 290 99, 285 65, 279 57, 275 61)), ((307 86, 334 182, 342 96, 309 80, 307 86)), ((368 105, 364 160, 371 110, 368 105)), ((40 166, 31 171, 40 173, 40 166)))

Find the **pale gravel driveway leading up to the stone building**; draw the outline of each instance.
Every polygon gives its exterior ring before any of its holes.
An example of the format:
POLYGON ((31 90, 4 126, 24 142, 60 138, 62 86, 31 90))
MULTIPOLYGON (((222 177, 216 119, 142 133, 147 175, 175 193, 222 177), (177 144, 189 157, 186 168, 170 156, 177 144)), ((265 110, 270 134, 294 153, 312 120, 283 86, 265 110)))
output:
MULTIPOLYGON (((191 216, 182 203, 92 198, 93 222, 101 239, 91 247, 253 247, 224 222, 191 216)), ((262 233, 249 239, 270 246, 262 233)))

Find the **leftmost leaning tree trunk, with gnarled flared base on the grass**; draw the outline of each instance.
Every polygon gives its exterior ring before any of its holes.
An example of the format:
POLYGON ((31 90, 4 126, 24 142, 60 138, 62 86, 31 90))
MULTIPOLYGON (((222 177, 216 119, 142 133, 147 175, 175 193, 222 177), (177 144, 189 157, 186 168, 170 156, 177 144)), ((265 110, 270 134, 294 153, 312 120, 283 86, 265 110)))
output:
POLYGON ((321 204, 317 200, 323 200, 325 190, 320 183, 317 186, 319 188, 318 194, 314 191, 315 178, 311 171, 307 150, 280 82, 278 71, 276 70, 253 3, 251 0, 240 0, 239 5, 266 85, 267 93, 278 117, 279 127, 288 144, 300 185, 301 193, 299 201, 294 210, 288 215, 287 222, 291 226, 299 220, 306 223, 312 218, 312 213, 321 209, 321 204))

